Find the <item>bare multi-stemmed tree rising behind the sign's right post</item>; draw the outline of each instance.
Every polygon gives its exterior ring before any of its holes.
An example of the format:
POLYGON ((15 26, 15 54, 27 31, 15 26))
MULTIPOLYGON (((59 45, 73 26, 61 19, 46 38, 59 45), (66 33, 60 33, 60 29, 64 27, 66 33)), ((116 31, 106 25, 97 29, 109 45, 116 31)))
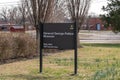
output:
MULTIPOLYGON (((78 32, 80 31, 85 17, 88 14, 90 2, 91 0, 66 0, 69 17, 76 23, 78 32)), ((80 43, 79 36, 77 39, 78 43, 80 43)), ((80 45, 78 44, 78 46, 80 45)))

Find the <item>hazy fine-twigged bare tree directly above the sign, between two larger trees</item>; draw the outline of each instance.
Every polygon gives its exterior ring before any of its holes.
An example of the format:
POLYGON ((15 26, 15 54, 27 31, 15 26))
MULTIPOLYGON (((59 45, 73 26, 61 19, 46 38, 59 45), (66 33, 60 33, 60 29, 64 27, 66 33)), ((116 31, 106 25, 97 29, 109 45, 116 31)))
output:
POLYGON ((63 23, 66 18, 65 13, 65 0, 54 0, 52 7, 52 16, 50 17, 50 22, 53 23, 63 23))

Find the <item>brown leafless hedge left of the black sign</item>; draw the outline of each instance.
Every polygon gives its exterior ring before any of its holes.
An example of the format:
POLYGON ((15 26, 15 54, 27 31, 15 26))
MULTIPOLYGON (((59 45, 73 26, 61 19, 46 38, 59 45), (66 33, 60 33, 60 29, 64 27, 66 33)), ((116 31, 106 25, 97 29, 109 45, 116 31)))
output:
POLYGON ((0 34, 0 62, 36 56, 36 41, 24 33, 0 34))

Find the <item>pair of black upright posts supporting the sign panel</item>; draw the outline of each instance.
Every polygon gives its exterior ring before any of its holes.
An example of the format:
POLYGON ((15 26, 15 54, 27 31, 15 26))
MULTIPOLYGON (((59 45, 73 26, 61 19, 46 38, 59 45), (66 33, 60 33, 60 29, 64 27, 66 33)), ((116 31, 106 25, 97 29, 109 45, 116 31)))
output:
MULTIPOLYGON (((62 24, 62 23, 61 23, 62 24)), ((40 73, 43 71, 43 27, 44 24, 40 23, 40 73)), ((74 23, 74 74, 77 74, 77 33, 78 33, 78 28, 76 26, 76 22, 74 23)))

